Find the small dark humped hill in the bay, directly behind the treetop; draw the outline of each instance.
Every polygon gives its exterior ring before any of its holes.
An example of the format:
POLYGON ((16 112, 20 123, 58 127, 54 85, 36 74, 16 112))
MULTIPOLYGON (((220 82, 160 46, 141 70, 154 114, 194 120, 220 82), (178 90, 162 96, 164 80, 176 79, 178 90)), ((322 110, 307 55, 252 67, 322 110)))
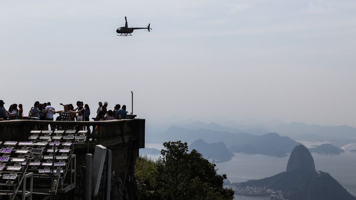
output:
POLYGON ((199 139, 189 145, 189 149, 196 149, 204 158, 214 159, 214 162, 231 160, 235 155, 227 149, 224 142, 206 143, 199 139))

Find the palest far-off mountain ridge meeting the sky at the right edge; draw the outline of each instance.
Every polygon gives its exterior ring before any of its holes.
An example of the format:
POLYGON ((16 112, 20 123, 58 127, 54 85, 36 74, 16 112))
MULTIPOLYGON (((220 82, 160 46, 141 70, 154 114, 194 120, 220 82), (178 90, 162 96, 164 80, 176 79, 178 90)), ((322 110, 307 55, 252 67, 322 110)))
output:
POLYGON ((330 138, 356 137, 356 128, 347 125, 320 126, 307 125, 306 123, 299 122, 291 122, 289 124, 281 124, 274 127, 269 127, 269 130, 287 136, 316 134, 321 137, 330 138))

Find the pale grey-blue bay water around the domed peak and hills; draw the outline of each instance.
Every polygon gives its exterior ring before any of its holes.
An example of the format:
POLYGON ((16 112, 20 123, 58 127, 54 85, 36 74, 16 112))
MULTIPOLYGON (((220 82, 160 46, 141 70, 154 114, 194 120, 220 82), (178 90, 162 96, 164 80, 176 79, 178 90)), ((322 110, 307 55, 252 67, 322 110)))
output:
MULTIPOLYGON (((315 143, 309 141, 298 141, 310 147, 315 143)), ((320 145, 320 144, 319 144, 320 145)), ((349 146, 348 146, 349 147, 349 146)), ((350 149, 352 149, 350 145, 350 149)), ((161 150, 160 143, 146 143, 146 148, 156 148, 161 150)), ((345 148, 347 149, 347 148, 345 148)), ((159 155, 147 155, 153 159, 159 155)), ((356 195, 356 153, 345 151, 340 155, 320 155, 312 153, 315 162, 315 169, 329 173, 339 183, 344 186, 352 195, 356 195)), ((289 154, 287 157, 278 158, 261 154, 235 153, 230 161, 216 163, 219 174, 226 174, 230 182, 244 182, 249 179, 262 179, 284 172, 287 168, 289 154)), ((236 200, 265 200, 265 197, 235 196, 236 200)), ((267 198, 269 199, 269 197, 267 198)), ((266 199, 266 200, 267 200, 266 199)))

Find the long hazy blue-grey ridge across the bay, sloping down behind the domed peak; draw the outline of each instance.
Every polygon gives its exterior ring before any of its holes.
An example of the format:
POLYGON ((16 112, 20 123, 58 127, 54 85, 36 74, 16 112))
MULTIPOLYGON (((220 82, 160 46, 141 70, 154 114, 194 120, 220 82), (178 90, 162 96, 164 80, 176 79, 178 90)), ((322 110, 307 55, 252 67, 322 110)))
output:
POLYGON ((247 153, 244 151, 250 151, 248 148, 252 147, 254 150, 251 151, 268 156, 279 157, 287 156, 286 153, 292 152, 292 149, 296 145, 300 144, 293 141, 289 137, 281 137, 277 133, 268 133, 262 136, 256 136, 248 133, 230 133, 226 131, 213 131, 210 129, 189 130, 187 128, 174 126, 170 127, 165 133, 161 135, 160 138, 166 141, 182 140, 187 142, 193 142, 203 138, 203 140, 208 143, 224 142, 226 146, 230 147, 230 149, 234 149, 234 151, 231 150, 234 153, 247 153), (246 149, 242 150, 240 146, 240 150, 236 152, 235 150, 237 147, 234 145, 239 144, 248 144, 249 146, 245 146, 246 149))

